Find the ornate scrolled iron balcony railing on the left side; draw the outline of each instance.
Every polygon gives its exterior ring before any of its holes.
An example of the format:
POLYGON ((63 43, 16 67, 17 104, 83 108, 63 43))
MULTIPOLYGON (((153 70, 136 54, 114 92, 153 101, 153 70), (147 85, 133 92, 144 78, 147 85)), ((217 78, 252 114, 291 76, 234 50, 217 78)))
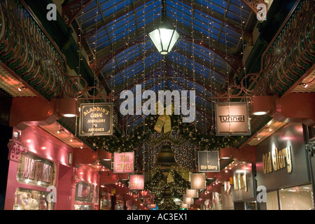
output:
POLYGON ((66 59, 23 1, 0 1, 0 31, 1 62, 46 99, 60 96, 66 59))

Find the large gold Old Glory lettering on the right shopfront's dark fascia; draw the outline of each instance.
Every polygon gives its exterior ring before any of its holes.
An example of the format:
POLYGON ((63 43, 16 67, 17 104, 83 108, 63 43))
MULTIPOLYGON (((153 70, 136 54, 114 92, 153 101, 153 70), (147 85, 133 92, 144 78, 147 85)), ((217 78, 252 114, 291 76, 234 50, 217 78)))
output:
POLYGON ((262 165, 264 174, 269 174, 279 169, 287 168, 288 173, 292 172, 291 146, 279 150, 272 149, 269 153, 262 154, 262 165))

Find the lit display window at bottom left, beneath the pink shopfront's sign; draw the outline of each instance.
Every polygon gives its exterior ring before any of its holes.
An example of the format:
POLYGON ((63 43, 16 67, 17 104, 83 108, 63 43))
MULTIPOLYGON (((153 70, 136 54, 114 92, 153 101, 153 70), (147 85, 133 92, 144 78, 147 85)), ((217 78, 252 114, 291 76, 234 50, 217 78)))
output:
POLYGON ((54 202, 48 192, 18 188, 13 210, 53 210, 54 202))

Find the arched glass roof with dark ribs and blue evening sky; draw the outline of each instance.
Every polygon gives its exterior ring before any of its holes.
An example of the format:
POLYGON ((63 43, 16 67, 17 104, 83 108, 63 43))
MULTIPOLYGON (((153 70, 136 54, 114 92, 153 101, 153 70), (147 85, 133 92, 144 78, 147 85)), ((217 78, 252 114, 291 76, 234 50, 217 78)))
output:
POLYGON ((196 104, 209 111, 208 115, 198 111, 197 117, 211 116, 209 97, 224 92, 232 69, 227 58, 241 62, 241 32, 251 10, 241 0, 165 3, 167 19, 181 37, 172 52, 162 56, 148 38, 148 32, 160 24, 162 1, 90 1, 76 18, 95 58, 90 64, 97 64, 95 72, 117 96, 122 90, 135 92, 137 84, 155 91, 194 89, 196 104))

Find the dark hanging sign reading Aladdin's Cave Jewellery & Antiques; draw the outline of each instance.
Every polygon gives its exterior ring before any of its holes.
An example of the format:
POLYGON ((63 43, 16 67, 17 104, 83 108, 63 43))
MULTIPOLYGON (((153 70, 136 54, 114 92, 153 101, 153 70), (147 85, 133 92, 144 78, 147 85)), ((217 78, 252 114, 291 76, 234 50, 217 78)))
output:
POLYGON ((80 105, 80 136, 112 134, 113 103, 80 105))

